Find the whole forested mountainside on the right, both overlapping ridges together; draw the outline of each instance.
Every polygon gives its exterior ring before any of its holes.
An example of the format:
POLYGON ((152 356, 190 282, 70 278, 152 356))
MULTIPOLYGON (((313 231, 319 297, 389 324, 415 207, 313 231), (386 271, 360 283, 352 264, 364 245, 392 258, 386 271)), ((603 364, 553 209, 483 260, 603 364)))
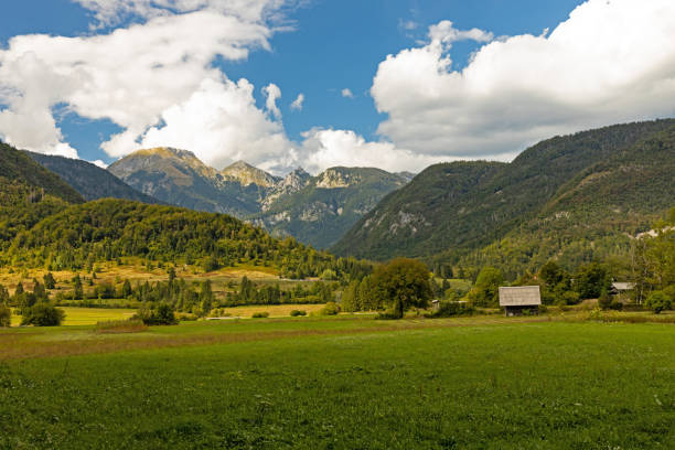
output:
MULTIPOLYGON (((556 137, 508 164, 433 165, 381 202, 333 249, 339 255, 404 255, 462 265, 493 262, 489 255, 499 254, 504 264, 523 268, 564 251, 569 243, 559 236, 561 229, 572 240, 587 239, 586 247, 597 237, 591 228, 615 242, 619 235, 644 229, 675 204, 674 125, 656 120, 556 137), (535 245, 542 234, 551 240, 535 245), (529 245, 516 254, 492 251, 514 239, 529 245), (533 245, 545 251, 537 254, 533 245)), ((568 251, 576 254, 576 262, 591 257, 579 254, 577 245, 568 251)))

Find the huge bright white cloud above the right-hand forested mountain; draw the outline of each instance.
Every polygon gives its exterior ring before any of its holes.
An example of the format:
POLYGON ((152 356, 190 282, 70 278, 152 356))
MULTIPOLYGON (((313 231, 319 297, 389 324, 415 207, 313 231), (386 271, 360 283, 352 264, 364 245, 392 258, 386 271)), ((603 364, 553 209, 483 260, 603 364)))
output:
POLYGON ((443 21, 389 55, 371 94, 399 148, 507 158, 539 139, 675 113, 675 2, 590 0, 549 34, 492 40, 443 21), (458 40, 489 42, 460 71, 458 40))

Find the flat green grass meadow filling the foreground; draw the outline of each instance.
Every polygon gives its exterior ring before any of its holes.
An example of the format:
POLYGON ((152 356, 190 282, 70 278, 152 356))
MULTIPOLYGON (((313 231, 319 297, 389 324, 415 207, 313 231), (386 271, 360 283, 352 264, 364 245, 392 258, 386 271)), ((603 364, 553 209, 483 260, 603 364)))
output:
POLYGON ((671 324, 247 320, 105 336, 22 329, 0 332, 0 448, 675 442, 671 324))

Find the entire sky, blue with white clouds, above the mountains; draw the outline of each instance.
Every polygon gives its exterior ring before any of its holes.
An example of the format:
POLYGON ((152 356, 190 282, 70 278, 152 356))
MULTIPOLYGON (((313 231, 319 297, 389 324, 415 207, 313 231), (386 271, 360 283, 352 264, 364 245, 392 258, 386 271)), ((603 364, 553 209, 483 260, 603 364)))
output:
POLYGON ((672 0, 0 8, 0 139, 104 167, 174 147, 217 169, 419 172, 675 116, 672 0))

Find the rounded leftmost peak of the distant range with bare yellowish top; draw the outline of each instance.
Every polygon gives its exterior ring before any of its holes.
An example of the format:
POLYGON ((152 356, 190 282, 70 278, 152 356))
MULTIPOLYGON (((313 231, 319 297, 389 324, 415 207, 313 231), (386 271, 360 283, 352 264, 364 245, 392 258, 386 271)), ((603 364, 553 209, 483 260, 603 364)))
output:
POLYGON ((267 189, 243 185, 200 161, 192 152, 170 148, 139 150, 108 171, 125 183, 163 202, 195 211, 243 217, 259 211, 267 189))

